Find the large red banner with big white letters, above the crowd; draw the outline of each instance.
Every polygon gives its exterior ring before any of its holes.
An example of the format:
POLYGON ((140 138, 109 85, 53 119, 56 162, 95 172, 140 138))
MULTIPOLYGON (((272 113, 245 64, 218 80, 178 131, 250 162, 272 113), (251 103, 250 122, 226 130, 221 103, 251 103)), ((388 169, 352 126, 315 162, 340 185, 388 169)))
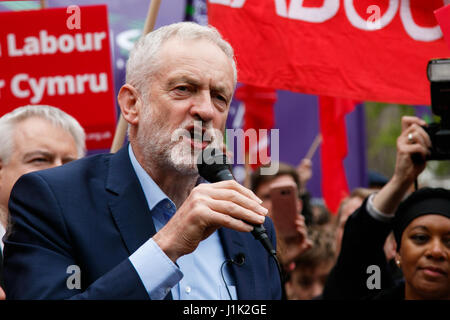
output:
POLYGON ((291 91, 430 104, 431 58, 450 56, 433 11, 446 0, 209 0, 239 81, 291 91))

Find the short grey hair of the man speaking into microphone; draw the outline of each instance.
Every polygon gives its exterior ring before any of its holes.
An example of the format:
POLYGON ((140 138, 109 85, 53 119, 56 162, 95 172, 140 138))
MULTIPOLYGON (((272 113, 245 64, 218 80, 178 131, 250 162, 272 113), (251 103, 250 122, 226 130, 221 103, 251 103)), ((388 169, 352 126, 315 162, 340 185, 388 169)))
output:
POLYGON ((203 39, 217 45, 231 60, 233 80, 236 86, 237 69, 231 45, 222 38, 214 27, 201 26, 193 22, 170 24, 142 36, 130 52, 127 61, 126 82, 135 87, 141 94, 146 95, 146 85, 148 85, 153 72, 158 68, 158 52, 162 45, 171 38, 180 40, 203 39))

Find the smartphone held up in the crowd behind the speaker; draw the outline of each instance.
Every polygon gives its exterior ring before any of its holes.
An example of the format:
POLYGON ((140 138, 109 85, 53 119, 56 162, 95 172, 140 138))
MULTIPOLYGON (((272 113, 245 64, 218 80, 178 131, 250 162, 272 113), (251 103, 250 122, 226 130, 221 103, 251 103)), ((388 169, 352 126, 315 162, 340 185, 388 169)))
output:
POLYGON ((299 216, 298 191, 294 182, 280 182, 270 186, 272 219, 278 233, 284 236, 298 234, 295 220, 299 216))

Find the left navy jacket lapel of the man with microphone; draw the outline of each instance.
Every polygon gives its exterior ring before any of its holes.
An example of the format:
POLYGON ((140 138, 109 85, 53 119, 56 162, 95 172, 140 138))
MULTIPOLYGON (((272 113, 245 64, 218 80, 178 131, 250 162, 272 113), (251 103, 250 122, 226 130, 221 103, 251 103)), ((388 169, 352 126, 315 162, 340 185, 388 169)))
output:
POLYGON ((144 192, 131 165, 128 145, 111 157, 106 189, 108 205, 131 255, 155 234, 144 192))

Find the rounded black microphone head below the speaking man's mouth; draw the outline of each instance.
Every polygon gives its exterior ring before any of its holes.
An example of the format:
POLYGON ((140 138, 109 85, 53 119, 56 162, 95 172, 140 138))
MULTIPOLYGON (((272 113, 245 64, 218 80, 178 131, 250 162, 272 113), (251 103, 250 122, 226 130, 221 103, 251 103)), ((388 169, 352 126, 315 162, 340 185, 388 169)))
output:
POLYGON ((230 172, 230 165, 227 156, 221 150, 209 147, 205 148, 198 156, 197 169, 202 178, 213 183, 223 180, 219 173, 222 171, 230 172))

